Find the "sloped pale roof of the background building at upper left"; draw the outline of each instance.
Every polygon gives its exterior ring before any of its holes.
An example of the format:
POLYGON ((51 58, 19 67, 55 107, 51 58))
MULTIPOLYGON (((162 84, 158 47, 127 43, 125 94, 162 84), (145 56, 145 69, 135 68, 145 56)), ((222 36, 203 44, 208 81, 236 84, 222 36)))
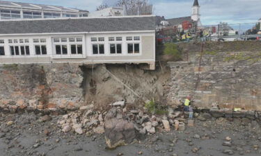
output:
POLYGON ((21 3, 12 1, 0 1, 0 6, 9 8, 27 8, 35 10, 52 10, 52 11, 65 11, 65 12, 88 12, 87 10, 79 10, 75 8, 66 8, 63 6, 50 6, 35 3, 21 3))

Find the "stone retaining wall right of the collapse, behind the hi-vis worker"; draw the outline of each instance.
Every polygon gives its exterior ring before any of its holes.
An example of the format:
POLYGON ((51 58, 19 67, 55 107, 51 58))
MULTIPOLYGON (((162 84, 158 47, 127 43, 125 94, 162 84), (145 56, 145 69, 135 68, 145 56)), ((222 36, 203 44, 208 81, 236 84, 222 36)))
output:
POLYGON ((189 95, 198 107, 217 103, 221 108, 261 111, 261 42, 207 43, 203 53, 200 44, 180 47, 189 60, 169 62, 168 103, 179 105, 189 95))

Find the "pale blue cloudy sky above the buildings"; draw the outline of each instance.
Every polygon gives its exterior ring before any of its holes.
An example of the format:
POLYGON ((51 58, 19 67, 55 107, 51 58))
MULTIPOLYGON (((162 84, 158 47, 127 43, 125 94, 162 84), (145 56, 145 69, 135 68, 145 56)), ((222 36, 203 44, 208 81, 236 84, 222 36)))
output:
MULTIPOLYGON (((4 1, 4 0, 3 0, 4 1)), ((118 0, 6 0, 25 3, 42 3, 67 6, 94 11, 101 3, 113 5, 118 0)), ((150 0, 154 14, 166 18, 191 15, 194 0, 150 0)), ((230 24, 256 22, 261 18, 261 0, 198 0, 203 25, 218 24, 225 21, 230 24)))

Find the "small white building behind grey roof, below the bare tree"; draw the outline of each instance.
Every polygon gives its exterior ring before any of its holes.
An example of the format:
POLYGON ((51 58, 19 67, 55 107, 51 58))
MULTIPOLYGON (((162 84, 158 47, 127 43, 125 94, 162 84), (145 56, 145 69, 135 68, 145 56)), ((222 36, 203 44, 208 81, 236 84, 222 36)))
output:
POLYGON ((89 17, 109 17, 109 16, 124 16, 124 10, 120 7, 105 8, 90 12, 89 17))

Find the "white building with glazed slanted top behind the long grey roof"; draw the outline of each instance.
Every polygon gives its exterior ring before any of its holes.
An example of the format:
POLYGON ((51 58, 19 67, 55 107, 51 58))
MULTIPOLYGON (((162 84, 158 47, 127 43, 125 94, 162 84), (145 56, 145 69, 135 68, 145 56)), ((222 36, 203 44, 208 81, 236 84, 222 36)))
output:
POLYGON ((0 20, 61 17, 88 17, 88 11, 62 6, 0 1, 0 20))

